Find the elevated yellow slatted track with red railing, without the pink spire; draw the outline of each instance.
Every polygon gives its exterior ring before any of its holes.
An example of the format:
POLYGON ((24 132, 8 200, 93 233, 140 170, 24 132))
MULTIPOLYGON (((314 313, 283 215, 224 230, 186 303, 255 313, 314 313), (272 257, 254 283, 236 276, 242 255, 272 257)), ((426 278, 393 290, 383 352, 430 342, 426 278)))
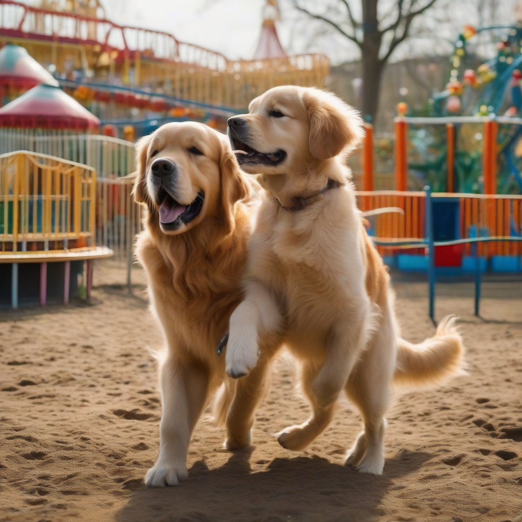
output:
MULTIPOLYGON (((171 34, 124 27, 66 5, 31 7, 0 0, 0 41, 28 49, 63 79, 120 82, 169 96, 233 109, 276 85, 322 87, 323 54, 228 60, 220 53, 176 40, 171 34), (54 10, 55 9, 55 10, 54 10)), ((267 24, 268 25, 268 24, 267 24)))

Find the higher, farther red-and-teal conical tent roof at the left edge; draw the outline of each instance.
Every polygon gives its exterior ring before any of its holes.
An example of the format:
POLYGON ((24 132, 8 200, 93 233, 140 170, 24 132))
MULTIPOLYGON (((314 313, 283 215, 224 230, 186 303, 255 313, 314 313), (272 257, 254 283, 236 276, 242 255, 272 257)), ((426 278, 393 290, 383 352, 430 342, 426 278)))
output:
POLYGON ((7 44, 0 50, 0 107, 39 84, 58 82, 19 45, 7 44))

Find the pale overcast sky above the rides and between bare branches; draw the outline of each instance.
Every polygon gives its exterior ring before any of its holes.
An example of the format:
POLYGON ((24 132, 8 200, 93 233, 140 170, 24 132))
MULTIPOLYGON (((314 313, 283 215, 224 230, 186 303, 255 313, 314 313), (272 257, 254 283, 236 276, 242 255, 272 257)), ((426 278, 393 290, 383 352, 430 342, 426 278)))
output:
MULTIPOLYGON (((448 43, 454 41, 464 25, 480 23, 477 6, 483 6, 486 22, 512 22, 517 0, 438 0, 436 9, 424 20, 417 20, 438 39, 423 37, 399 46, 395 59, 417 52, 448 53, 448 43), (494 6, 494 20, 489 13, 494 6)), ((300 0, 302 5, 321 11, 333 0, 300 0)), ((387 8, 396 0, 380 0, 387 8)), ((232 59, 251 58, 256 49, 265 0, 102 0, 108 17, 126 25, 144 26, 168 31, 182 41, 196 43, 219 51, 232 59)), ((351 2, 356 17, 360 0, 351 2)), ((422 2, 421 2, 422 4, 422 2)), ((292 0, 279 0, 281 22, 279 38, 290 52, 319 51, 329 55, 333 63, 355 60, 356 46, 325 26, 303 17, 292 6, 292 0)), ((415 30, 415 28, 414 28, 415 30)), ((426 32, 426 31, 420 31, 426 32)))

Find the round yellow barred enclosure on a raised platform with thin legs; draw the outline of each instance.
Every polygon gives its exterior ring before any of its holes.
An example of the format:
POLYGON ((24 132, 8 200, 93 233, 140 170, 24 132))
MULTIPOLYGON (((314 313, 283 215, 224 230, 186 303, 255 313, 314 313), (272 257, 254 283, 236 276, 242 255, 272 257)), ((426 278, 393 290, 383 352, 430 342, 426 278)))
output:
POLYGON ((112 255, 96 246, 96 181, 73 161, 0 155, 0 306, 68 303, 84 264, 90 297, 93 259, 112 255))

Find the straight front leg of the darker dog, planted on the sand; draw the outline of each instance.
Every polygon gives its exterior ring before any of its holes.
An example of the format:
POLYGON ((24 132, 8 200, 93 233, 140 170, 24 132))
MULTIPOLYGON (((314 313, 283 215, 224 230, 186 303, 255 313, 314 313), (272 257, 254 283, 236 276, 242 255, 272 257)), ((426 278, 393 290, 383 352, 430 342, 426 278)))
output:
POLYGON ((161 366, 162 415, 160 453, 147 471, 147 486, 173 486, 187 478, 187 452, 192 430, 209 393, 208 371, 168 358, 161 366))

